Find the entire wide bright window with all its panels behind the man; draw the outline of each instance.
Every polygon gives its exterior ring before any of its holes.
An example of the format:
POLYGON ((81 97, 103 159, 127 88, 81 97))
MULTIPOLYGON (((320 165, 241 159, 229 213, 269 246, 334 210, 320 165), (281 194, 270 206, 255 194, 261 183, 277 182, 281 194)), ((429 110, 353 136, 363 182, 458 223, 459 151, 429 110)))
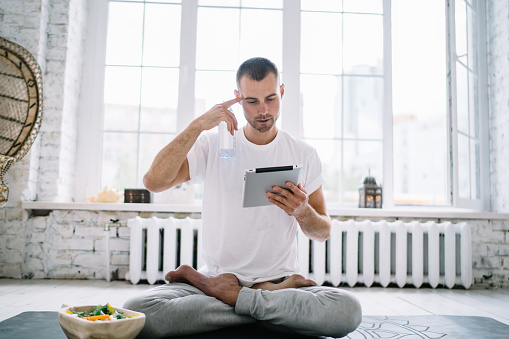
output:
MULTIPOLYGON (((483 6, 110 0, 104 91, 95 91, 104 98, 100 133, 87 125, 101 140, 89 168, 102 170, 90 186, 142 187, 164 145, 233 98, 238 65, 265 56, 287 85, 278 126, 317 148, 329 205, 356 206, 371 173, 384 185, 385 206, 481 208, 489 189, 483 6)), ((235 114, 243 125, 240 107, 235 114)), ((170 191, 178 201, 200 197, 170 191)))

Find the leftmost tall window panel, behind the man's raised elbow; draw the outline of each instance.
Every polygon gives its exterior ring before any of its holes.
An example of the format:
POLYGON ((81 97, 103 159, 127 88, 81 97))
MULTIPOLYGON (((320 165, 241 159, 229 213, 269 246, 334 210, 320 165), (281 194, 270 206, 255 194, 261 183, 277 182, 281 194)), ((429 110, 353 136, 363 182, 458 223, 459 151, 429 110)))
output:
POLYGON ((101 186, 140 187, 177 133, 181 5, 110 1, 101 186))

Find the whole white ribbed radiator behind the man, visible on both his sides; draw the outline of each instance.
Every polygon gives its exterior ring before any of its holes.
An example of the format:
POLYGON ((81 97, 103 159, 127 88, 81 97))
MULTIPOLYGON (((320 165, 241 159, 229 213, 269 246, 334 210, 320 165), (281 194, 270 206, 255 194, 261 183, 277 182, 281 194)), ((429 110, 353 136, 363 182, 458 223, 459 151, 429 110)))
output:
MULTIPOLYGON (((136 217, 127 225, 131 228, 127 279, 133 284, 140 279, 154 284, 182 264, 202 266, 200 219, 136 217)), ((300 230, 297 240, 301 273, 319 285, 429 283, 469 288, 472 284, 471 235, 464 222, 333 220, 326 242, 309 240, 300 230)))

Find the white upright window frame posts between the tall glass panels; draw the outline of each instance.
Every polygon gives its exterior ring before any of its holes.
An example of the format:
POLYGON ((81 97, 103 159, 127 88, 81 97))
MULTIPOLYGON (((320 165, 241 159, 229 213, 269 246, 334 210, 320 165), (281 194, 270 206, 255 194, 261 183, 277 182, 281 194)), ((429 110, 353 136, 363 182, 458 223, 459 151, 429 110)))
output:
MULTIPOLYGON (((489 121, 487 101, 487 65, 486 65, 486 23, 485 0, 477 0, 477 61, 478 61, 478 103, 479 103, 479 147, 480 147, 480 199, 462 199, 458 193, 458 145, 456 113, 456 69, 455 62, 455 23, 454 3, 463 0, 446 0, 447 28, 447 98, 448 126, 448 190, 449 206, 490 211, 489 180, 489 121)), ((131 2, 131 1, 130 1, 131 2)), ((78 145, 76 159, 75 201, 85 201, 97 194, 101 181, 103 118, 104 118, 104 73, 106 61, 106 36, 108 19, 108 0, 91 1, 88 6, 88 33, 85 48, 85 63, 82 79, 82 95, 78 123, 78 145)), ((181 4, 181 36, 179 94, 177 104, 177 133, 182 131, 194 119, 195 74, 196 74, 196 37, 198 0, 185 0, 181 4), (190 114, 191 112, 191 114, 190 114)), ((394 208, 393 201, 393 112, 392 112, 392 40, 391 40, 391 0, 383 0, 383 134, 382 168, 384 182, 384 208, 394 208)), ((281 127, 298 138, 303 137, 303 112, 300 105, 300 25, 301 1, 283 1, 283 64, 284 81, 291 83, 285 92, 283 110, 285 119, 281 127)), ((342 155, 343 157, 343 155, 342 155)), ((343 162, 343 159, 341 159, 343 162)), ((139 166, 139 164, 138 164, 139 166)), ((328 202, 338 205, 339 202, 328 202)), ((397 205, 400 206, 400 205, 397 205)), ((412 206, 428 208, 431 206, 412 206)))

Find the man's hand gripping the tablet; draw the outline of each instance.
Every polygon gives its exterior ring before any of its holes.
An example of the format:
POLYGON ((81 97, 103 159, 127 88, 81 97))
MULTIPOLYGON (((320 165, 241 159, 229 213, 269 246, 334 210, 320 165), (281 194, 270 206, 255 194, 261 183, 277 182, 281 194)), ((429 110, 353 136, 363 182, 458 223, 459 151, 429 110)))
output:
POLYGON ((267 192, 267 198, 269 198, 271 203, 281 208, 288 215, 299 218, 299 216, 303 216, 308 207, 309 197, 307 192, 304 187, 302 187, 301 183, 295 186, 294 183, 287 181, 286 186, 289 190, 279 186, 272 187, 274 192, 281 195, 267 192))

